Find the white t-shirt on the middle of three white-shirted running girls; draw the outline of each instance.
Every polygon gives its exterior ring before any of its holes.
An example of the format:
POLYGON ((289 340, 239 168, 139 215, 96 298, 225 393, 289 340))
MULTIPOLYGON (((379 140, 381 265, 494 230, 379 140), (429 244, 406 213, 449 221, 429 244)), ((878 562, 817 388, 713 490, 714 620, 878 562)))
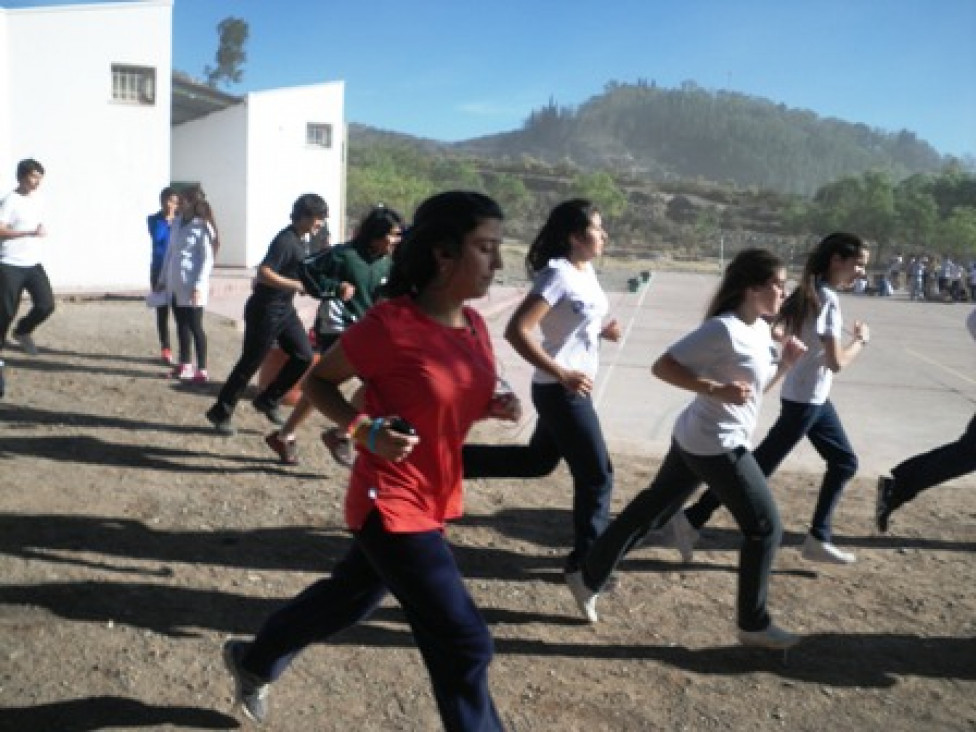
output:
POLYGON ((752 386, 752 397, 745 404, 697 395, 674 425, 674 439, 681 449, 693 455, 720 455, 751 447, 762 394, 776 375, 779 357, 769 324, 758 318, 747 325, 734 313, 725 313, 706 320, 672 345, 668 354, 700 377, 752 386))

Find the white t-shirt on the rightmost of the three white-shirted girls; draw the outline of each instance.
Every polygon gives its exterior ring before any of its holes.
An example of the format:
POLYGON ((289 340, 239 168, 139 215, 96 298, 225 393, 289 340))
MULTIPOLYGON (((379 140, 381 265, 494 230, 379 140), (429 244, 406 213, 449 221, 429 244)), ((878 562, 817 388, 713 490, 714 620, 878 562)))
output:
POLYGON ((844 320, 840 313, 837 293, 826 285, 817 287, 820 312, 816 318, 807 318, 800 340, 807 347, 783 380, 780 397, 800 404, 823 404, 830 396, 834 372, 827 367, 827 338, 840 340, 844 333, 844 320))

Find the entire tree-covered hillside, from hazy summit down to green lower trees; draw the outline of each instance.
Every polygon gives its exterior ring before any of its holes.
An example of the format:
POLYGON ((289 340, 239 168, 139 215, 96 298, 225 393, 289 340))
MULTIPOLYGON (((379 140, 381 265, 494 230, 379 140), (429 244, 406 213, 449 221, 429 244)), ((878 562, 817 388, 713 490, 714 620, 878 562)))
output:
POLYGON ((448 188, 481 190, 528 241, 550 208, 584 196, 609 221, 614 250, 714 256, 765 246, 793 256, 832 230, 885 250, 976 253, 973 160, 940 156, 914 133, 888 133, 768 100, 653 84, 610 84, 578 109, 555 103, 523 129, 444 143, 349 129, 347 206, 409 215, 448 188))

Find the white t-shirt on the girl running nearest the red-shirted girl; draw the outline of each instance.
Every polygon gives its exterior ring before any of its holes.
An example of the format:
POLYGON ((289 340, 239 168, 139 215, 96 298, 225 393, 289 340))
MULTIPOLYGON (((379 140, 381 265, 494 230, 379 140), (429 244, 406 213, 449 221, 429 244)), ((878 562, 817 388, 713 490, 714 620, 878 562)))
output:
MULTIPOLYGON (((569 260, 552 259, 536 276, 529 294, 538 295, 550 307, 539 323, 542 350, 562 368, 594 378, 600 365, 600 331, 610 304, 593 267, 587 262, 577 269, 569 260)), ((556 383, 541 369, 536 369, 532 381, 556 383)))

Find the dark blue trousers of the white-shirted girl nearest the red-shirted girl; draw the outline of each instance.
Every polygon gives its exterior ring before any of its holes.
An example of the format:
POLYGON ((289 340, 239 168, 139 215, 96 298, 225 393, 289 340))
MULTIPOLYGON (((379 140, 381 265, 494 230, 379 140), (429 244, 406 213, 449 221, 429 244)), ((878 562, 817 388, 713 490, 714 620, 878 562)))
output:
POLYGON ((562 384, 532 384, 539 420, 527 445, 465 445, 465 478, 540 478, 565 459, 573 476, 573 550, 567 570, 575 571, 610 520, 613 464, 593 400, 562 384))

